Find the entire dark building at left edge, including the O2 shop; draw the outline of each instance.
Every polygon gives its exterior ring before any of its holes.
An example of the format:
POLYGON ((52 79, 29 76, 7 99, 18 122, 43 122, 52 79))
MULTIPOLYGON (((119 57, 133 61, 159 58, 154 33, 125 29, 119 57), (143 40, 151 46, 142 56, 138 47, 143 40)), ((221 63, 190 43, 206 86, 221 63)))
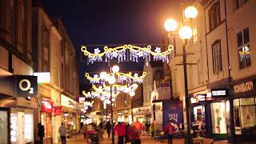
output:
POLYGON ((0 2, 0 143, 34 142, 32 1, 0 2))

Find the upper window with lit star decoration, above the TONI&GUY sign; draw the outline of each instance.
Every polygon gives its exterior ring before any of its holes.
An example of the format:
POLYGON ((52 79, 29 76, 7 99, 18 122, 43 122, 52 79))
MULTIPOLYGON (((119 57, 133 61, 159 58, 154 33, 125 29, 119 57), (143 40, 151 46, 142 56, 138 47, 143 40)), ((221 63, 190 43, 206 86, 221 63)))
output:
POLYGON ((249 28, 237 34, 239 69, 251 66, 249 28))

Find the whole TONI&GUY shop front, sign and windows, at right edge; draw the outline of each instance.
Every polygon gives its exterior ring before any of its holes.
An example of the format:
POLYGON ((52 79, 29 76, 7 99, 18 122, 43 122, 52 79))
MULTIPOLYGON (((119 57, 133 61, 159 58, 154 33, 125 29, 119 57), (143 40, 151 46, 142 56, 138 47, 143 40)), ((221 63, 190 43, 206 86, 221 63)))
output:
POLYGON ((238 142, 256 142, 256 76, 230 84, 234 134, 238 142))

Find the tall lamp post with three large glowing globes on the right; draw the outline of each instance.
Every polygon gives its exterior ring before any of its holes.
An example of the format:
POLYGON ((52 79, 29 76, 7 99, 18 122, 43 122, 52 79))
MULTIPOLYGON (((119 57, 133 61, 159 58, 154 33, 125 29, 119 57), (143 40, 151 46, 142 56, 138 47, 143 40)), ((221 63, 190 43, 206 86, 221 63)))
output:
MULTIPOLYGON (((184 10, 185 17, 188 19, 196 18, 198 11, 194 6, 189 6, 184 10)), ((183 25, 183 23, 182 23, 183 25)), ((169 19, 164 24, 166 31, 169 33, 177 29, 177 22, 174 19, 169 19)), ((192 143, 192 137, 190 134, 191 130, 191 121, 190 121, 190 97, 188 93, 188 86, 187 86, 187 71, 186 71, 186 42, 188 39, 192 37, 193 33, 189 26, 182 26, 179 30, 179 37, 183 40, 182 46, 182 65, 183 65, 183 74, 184 74, 184 91, 185 91, 185 102, 186 102, 186 129, 187 129, 187 138, 186 143, 192 143)))

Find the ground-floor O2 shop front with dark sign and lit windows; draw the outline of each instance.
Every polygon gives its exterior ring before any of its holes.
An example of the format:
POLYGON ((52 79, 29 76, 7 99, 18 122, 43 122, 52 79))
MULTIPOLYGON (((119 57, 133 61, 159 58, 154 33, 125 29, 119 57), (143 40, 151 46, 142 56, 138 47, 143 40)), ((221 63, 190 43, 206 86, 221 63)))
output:
POLYGON ((13 75, 0 79, 0 143, 34 142, 37 78, 13 75))

